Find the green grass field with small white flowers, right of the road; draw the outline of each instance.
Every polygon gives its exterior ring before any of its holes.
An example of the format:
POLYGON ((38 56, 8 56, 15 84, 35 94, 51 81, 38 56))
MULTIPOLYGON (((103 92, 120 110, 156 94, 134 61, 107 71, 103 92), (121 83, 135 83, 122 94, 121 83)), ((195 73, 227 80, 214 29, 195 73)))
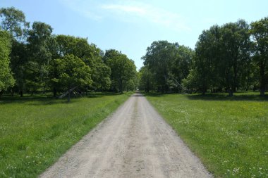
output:
POLYGON ((215 177, 268 177, 268 97, 147 94, 215 177))

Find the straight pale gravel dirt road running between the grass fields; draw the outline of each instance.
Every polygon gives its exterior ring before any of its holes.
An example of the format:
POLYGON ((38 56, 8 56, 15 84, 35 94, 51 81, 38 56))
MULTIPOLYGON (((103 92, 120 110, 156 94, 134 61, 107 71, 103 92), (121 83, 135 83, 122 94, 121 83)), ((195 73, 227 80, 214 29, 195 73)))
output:
POLYGON ((40 177, 212 177, 141 94, 40 177))

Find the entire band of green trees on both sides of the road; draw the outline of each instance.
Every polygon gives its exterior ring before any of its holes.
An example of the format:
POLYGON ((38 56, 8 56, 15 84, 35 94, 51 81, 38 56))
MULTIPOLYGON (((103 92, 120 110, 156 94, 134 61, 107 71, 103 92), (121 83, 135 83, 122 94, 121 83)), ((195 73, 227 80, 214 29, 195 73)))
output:
POLYGON ((144 89, 161 92, 217 92, 268 87, 268 18, 213 25, 195 49, 155 41, 144 66, 115 49, 105 53, 87 38, 53 34, 42 22, 27 22, 23 11, 0 8, 0 94, 144 89), (69 66, 70 65, 70 66, 69 66))

